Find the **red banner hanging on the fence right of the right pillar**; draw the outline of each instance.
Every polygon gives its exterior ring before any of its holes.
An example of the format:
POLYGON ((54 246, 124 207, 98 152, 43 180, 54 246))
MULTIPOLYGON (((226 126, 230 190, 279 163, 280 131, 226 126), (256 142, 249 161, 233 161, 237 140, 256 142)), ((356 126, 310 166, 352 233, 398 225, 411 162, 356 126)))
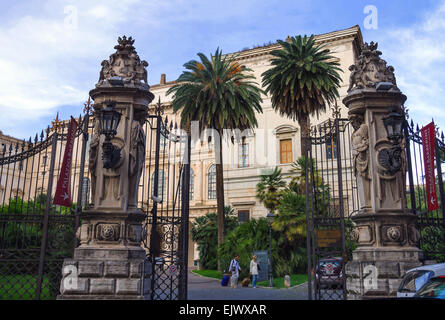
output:
POLYGON ((436 192, 436 177, 434 176, 434 151, 436 144, 436 132, 434 122, 429 123, 421 130, 423 160, 425 163, 426 196, 428 201, 428 211, 439 209, 436 192))

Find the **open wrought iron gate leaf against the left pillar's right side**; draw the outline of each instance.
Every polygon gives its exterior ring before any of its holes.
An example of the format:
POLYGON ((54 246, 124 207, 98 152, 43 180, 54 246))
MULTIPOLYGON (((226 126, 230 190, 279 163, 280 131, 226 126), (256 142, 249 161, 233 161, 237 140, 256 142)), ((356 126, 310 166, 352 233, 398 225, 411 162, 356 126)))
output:
POLYGON ((149 155, 141 178, 140 205, 147 213, 144 246, 151 263, 151 300, 187 299, 190 136, 161 116, 146 123, 149 155))

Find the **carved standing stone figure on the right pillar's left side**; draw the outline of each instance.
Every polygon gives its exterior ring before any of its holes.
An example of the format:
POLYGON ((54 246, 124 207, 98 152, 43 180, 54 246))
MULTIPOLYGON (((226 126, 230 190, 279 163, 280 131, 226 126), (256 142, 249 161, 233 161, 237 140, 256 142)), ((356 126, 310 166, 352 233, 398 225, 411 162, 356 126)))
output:
POLYGON ((354 175, 357 177, 360 208, 371 208, 371 178, 369 176, 369 137, 368 126, 363 115, 352 114, 352 153, 354 158, 354 175))

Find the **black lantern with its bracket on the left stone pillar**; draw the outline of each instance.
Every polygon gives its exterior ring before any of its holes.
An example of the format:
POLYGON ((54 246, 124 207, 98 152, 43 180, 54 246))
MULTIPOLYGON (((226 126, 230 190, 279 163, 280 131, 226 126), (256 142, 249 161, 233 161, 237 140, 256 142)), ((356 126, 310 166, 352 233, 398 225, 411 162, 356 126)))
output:
POLYGON ((121 151, 111 142, 111 139, 117 133, 117 126, 121 119, 121 114, 114 110, 116 102, 106 102, 106 107, 102 109, 99 115, 100 134, 105 135, 105 141, 102 144, 102 160, 105 169, 111 169, 116 166, 121 157, 121 151))

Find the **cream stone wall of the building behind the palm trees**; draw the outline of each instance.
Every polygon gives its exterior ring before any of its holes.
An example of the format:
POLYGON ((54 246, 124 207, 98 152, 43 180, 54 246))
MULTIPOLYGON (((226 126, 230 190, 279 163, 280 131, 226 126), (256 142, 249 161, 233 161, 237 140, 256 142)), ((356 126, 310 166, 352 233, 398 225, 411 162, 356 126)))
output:
MULTIPOLYGON (((340 63, 342 85, 339 89, 340 98, 337 105, 340 107, 340 116, 347 117, 347 109, 342 104, 343 98, 347 95, 349 86, 349 66, 355 63, 358 56, 358 48, 362 43, 361 32, 358 26, 336 31, 324 35, 316 36, 316 41, 323 43, 331 54, 340 63)), ((238 54, 237 60, 240 64, 252 69, 256 82, 261 85, 261 74, 270 68, 270 54, 278 45, 246 50, 238 54)), ((169 107, 171 97, 166 96, 166 91, 174 85, 174 81, 152 86, 151 90, 155 94, 155 100, 164 105, 164 114, 179 123, 179 114, 173 114, 169 107)), ((249 166, 247 168, 238 167, 239 144, 232 144, 228 141, 223 146, 224 163, 224 191, 226 205, 231 205, 235 211, 248 210, 250 218, 265 217, 267 214, 264 206, 256 199, 256 185, 260 181, 261 174, 278 166, 282 169, 283 175, 289 177, 291 165, 280 164, 280 140, 292 139, 292 161, 301 156, 300 149, 300 127, 297 122, 280 116, 272 109, 270 96, 263 97, 263 113, 257 114, 258 128, 253 135, 246 137, 249 145, 249 166)), ((311 124, 317 125, 333 119, 333 110, 326 110, 319 117, 311 117, 311 124)), ((349 147, 349 146, 347 146, 349 147)), ((345 154, 349 154, 346 150, 345 154)), ((350 160, 350 159, 346 159, 350 160)), ((197 146, 192 146, 191 167, 194 172, 194 198, 190 201, 190 217, 194 218, 204 215, 207 212, 216 211, 216 199, 208 198, 208 169, 215 163, 214 146, 204 141, 197 146)), ((349 163, 349 161, 345 161, 349 163)), ((332 171, 334 172, 334 171, 332 171)), ((332 183, 336 183, 336 175, 331 175, 332 183)), ((352 179, 352 176, 351 176, 352 179)), ((351 183, 351 182, 350 182, 351 183)), ((346 181, 345 185, 348 185, 346 181)), ((352 183, 351 183, 352 185, 352 183)), ((338 192, 338 191, 337 191, 338 192)), ((345 197, 350 193, 345 192, 345 197)), ((351 205, 351 203, 349 203, 351 205)), ((196 249, 196 248, 195 248, 196 249)), ((196 253, 195 253, 196 254, 196 253)), ((193 259, 194 252, 190 253, 190 260, 193 259)), ((190 261, 191 262, 191 261, 190 261)), ((191 263, 189 263, 191 265, 191 263)))

